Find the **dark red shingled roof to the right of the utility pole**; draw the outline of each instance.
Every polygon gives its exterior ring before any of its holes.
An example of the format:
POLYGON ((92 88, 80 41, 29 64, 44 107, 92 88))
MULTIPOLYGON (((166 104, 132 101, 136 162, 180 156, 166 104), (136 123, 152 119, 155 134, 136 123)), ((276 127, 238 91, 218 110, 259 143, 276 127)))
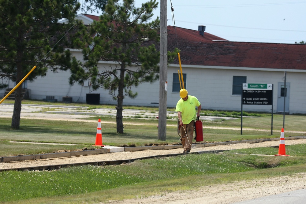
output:
POLYGON ((167 28, 168 50, 181 50, 182 65, 306 69, 306 44, 231 42, 207 32, 167 28))

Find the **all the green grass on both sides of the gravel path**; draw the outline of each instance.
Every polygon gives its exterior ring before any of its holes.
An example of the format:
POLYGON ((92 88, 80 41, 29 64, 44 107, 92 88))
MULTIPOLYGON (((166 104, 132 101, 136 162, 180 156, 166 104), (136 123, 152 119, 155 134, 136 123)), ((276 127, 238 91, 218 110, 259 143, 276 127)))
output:
MULTIPOLYGON (((7 103, 8 101, 6 100, 7 103)), ((114 105, 88 106, 87 104, 37 101, 23 101, 23 104, 69 105, 86 109, 115 107, 114 105)), ((125 106, 124 108, 158 112, 158 108, 154 107, 125 106)), ((174 109, 169 108, 168 111, 174 111, 174 109)), ((252 117, 243 118, 243 134, 241 135, 239 112, 202 110, 201 115, 238 117, 235 120, 203 121, 204 142, 279 138, 283 124, 283 115, 274 114, 273 135, 271 135, 271 114, 244 112, 244 116, 252 117), (257 130, 247 130, 247 128, 257 130)), ((285 137, 305 135, 306 117, 304 115, 286 115, 285 117, 285 137)), ((102 121, 104 145, 146 146, 179 142, 176 119, 167 120, 166 141, 160 141, 156 119, 124 118, 125 133, 117 134, 114 117, 90 117, 80 122, 21 119, 20 130, 10 128, 10 118, 0 117, 0 156, 42 154, 63 149, 80 150, 85 147, 99 148, 92 147, 99 118, 102 121), (88 120, 92 122, 87 122, 88 120), (77 145, 23 144, 9 141, 77 145)), ((174 158, 148 159, 117 166, 77 166, 54 171, 0 172, 0 202, 99 203, 163 195, 177 190, 194 190, 212 184, 281 177, 305 172, 305 147, 305 145, 286 146, 287 154, 293 157, 243 155, 277 153, 275 148, 265 147, 231 150, 221 154, 188 154, 174 158)))

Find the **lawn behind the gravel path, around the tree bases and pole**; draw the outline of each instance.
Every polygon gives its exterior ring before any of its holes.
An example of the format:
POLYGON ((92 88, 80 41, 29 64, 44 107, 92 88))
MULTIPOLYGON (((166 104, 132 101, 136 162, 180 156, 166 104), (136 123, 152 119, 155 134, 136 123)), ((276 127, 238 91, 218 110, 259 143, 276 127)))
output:
MULTIPOLYGON (((260 115, 260 117, 243 118, 242 135, 240 119, 203 121, 204 141, 202 143, 279 138, 283 116, 274 115, 273 135, 271 135, 271 115, 263 113, 260 115), (252 130, 248 130, 248 128, 252 128, 252 130)), ((86 118, 86 121, 77 122, 21 119, 19 130, 10 128, 10 118, 0 117, 0 156, 52 153, 60 149, 79 150, 85 147, 92 149, 99 118, 101 118, 104 145, 133 147, 151 146, 152 144, 171 145, 180 142, 180 137, 177 134, 177 120, 167 120, 166 141, 160 141, 157 119, 124 118, 124 134, 117 134, 114 117, 93 116, 86 118), (92 122, 88 122, 90 120, 92 122), (70 143, 77 144, 77 146, 16 144, 9 143, 9 141, 70 143)), ((287 115, 285 121, 285 137, 306 135, 305 116, 287 115)))

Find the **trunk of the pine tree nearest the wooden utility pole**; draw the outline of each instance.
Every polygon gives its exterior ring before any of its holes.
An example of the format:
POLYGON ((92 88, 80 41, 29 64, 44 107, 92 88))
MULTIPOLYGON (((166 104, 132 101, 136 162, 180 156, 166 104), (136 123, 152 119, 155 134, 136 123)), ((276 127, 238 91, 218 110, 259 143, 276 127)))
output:
POLYGON ((120 70, 120 81, 118 85, 118 97, 117 97, 117 114, 116 114, 116 123, 117 123, 117 133, 123 134, 123 122, 122 122, 122 106, 123 106, 123 89, 124 89, 124 73, 125 65, 121 64, 120 70))

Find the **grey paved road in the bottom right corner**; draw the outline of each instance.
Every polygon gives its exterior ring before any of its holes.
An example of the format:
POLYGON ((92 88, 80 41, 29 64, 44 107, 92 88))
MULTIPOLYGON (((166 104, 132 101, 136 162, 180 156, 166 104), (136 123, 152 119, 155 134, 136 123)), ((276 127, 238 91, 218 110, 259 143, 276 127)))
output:
POLYGON ((306 189, 300 189, 296 191, 290 191, 277 195, 269 195, 253 200, 235 202, 233 204, 304 204, 306 203, 306 189))

